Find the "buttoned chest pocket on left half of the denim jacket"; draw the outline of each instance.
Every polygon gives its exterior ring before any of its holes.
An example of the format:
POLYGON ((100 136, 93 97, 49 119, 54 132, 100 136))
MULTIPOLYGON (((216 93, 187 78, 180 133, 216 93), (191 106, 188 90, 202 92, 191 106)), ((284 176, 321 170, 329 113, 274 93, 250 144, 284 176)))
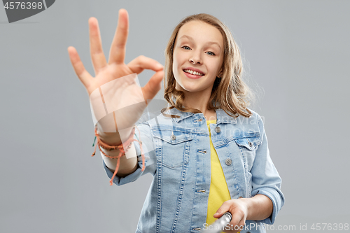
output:
POLYGON ((188 164, 190 154, 190 141, 193 135, 188 132, 169 129, 152 130, 157 143, 157 160, 163 166, 175 169, 188 164))

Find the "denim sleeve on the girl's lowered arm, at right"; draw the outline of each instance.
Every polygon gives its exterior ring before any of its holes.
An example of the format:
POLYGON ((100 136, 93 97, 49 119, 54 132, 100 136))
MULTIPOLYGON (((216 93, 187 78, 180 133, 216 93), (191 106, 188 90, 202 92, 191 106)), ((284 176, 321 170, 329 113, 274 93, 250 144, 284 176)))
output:
POLYGON ((284 196, 281 192, 281 177, 274 167, 274 163, 269 156, 269 148, 267 146, 267 137, 264 125, 260 115, 258 115, 258 125, 260 129, 261 143, 256 150, 255 160, 251 169, 252 174, 252 192, 251 196, 257 194, 265 195, 271 199, 274 209, 272 215, 262 223, 272 225, 274 220, 284 204, 284 196))

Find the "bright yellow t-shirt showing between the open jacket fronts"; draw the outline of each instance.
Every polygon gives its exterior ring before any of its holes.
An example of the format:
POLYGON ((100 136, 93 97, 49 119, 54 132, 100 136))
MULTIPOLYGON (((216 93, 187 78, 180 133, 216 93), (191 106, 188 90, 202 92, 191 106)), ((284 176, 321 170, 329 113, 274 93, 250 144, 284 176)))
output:
POLYGON ((231 196, 230 192, 228 191, 228 184, 226 183, 226 179, 223 174, 223 168, 221 167, 220 160, 218 159, 218 154, 216 153, 213 142, 211 141, 209 124, 216 124, 216 120, 207 120, 210 139, 211 180, 206 223, 211 225, 217 219, 214 218, 214 213, 218 211, 224 202, 230 200, 231 196))

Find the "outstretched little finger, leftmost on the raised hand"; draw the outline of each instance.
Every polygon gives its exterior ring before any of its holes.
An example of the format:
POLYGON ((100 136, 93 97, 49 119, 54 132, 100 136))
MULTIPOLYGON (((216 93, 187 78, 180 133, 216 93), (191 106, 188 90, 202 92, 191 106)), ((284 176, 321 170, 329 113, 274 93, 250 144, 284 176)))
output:
POLYGON ((83 85, 87 87, 92 80, 92 76, 90 76, 90 73, 86 71, 83 62, 81 62, 80 60, 78 52, 76 52, 76 48, 69 46, 68 54, 69 58, 71 59, 73 69, 76 72, 76 76, 78 76, 81 83, 83 83, 83 85))

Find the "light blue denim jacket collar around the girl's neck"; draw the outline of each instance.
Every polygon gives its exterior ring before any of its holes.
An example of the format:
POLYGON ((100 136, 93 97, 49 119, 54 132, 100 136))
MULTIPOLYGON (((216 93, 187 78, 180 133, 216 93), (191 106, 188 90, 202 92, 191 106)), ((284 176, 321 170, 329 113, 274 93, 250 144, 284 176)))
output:
MULTIPOLYGON (((175 99, 173 97, 173 101, 175 102, 175 99)), ((171 106, 168 103, 168 107, 171 106)), ((225 111, 223 111, 223 109, 218 108, 215 109, 216 111, 216 124, 219 125, 221 123, 232 123, 235 124, 236 118, 233 118, 232 116, 228 115, 228 113, 225 113, 225 111)), ((172 115, 179 115, 180 118, 172 118, 172 120, 176 123, 180 122, 183 119, 189 118, 190 116, 197 116, 198 118, 204 118, 204 114, 203 113, 189 113, 189 112, 183 112, 183 111, 179 111, 179 109, 177 108, 172 108, 170 110, 167 111, 168 114, 172 114, 172 115)))

